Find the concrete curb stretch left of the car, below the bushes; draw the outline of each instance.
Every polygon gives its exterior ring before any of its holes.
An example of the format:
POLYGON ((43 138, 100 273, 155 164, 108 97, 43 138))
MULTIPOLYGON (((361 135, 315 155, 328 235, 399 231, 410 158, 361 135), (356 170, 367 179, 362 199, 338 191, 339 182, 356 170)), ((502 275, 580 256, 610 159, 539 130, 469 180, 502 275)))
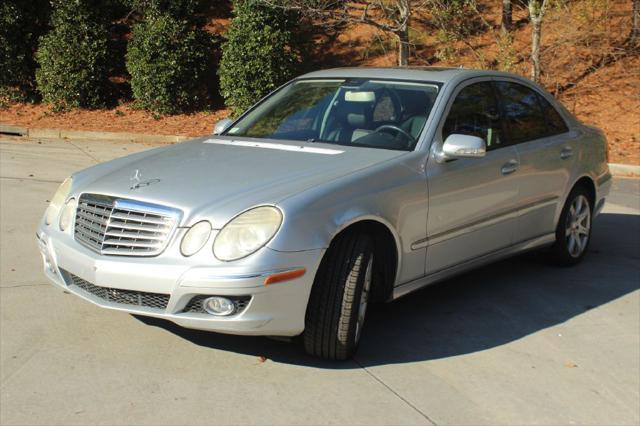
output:
POLYGON ((103 141, 176 143, 195 136, 149 135, 144 133, 95 132, 85 130, 40 129, 0 124, 0 134, 26 136, 35 139, 94 139, 103 141))

